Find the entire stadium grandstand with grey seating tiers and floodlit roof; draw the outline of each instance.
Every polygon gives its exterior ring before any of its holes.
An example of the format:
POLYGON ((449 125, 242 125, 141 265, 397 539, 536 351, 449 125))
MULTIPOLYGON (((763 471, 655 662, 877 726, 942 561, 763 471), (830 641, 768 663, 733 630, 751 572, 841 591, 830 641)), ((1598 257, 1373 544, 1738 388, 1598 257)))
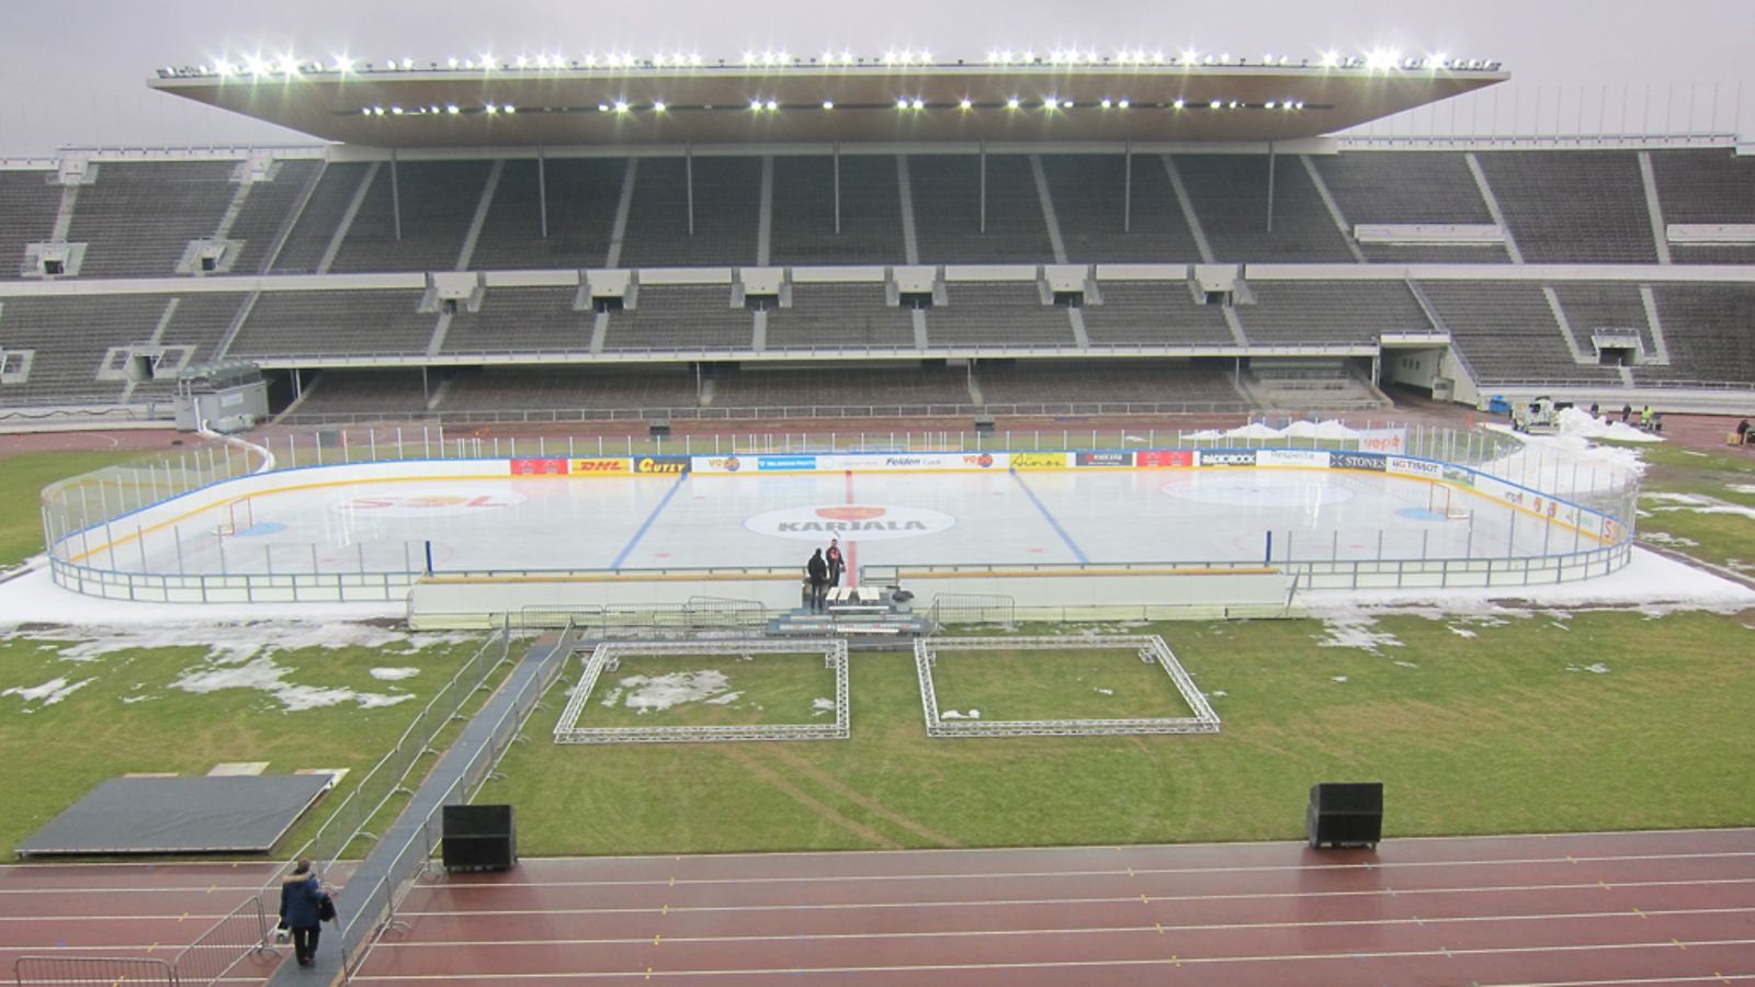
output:
POLYGON ((167 418, 167 381, 219 360, 263 367, 291 421, 1746 404, 1734 137, 1336 137, 1508 77, 1146 53, 163 68, 167 95, 325 144, 0 165, 0 407, 167 418))

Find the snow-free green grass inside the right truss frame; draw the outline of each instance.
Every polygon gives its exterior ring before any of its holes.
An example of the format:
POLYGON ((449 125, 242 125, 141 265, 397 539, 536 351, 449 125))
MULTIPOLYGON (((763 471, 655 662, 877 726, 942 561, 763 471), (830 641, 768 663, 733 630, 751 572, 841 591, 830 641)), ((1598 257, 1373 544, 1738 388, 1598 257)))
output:
POLYGON ((1132 648, 958 652, 934 648, 939 710, 979 710, 983 720, 1127 720, 1193 717, 1176 683, 1132 648))

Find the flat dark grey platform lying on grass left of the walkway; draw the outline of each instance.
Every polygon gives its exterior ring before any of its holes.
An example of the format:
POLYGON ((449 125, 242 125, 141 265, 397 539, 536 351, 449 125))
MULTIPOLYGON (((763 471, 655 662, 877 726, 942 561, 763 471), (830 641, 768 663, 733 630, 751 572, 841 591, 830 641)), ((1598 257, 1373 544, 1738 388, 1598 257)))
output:
POLYGON ((18 854, 267 854, 328 783, 328 774, 111 778, 18 854))

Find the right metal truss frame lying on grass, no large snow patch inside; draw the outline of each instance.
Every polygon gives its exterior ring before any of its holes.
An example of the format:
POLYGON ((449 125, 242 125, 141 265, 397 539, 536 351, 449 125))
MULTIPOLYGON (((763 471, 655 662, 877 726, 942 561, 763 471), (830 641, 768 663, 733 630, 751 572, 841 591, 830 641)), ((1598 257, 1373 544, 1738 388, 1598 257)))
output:
POLYGON ((1157 634, 1100 638, 1095 641, 1069 641, 1065 638, 934 638, 914 641, 914 674, 920 678, 920 704, 927 715, 928 738, 1074 738, 1123 734, 1216 734, 1218 713, 1176 655, 1157 634), (1193 717, 1155 717, 1132 720, 941 720, 939 694, 932 683, 932 666, 937 652, 1071 652, 1102 648, 1134 648, 1139 660, 1157 664, 1176 683, 1183 702, 1193 717))

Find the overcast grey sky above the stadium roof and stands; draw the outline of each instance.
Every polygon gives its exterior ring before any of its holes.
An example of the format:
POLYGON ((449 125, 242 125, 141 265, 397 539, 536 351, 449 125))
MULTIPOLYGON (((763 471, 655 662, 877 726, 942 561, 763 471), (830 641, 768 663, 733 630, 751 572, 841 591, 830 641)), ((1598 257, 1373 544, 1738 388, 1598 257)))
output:
POLYGON ((1623 114, 1637 132, 1755 132, 1755 0, 4 0, 0 25, 0 156, 91 144, 309 144, 146 88, 160 65, 253 51, 442 61, 483 51, 735 58, 897 46, 981 60, 995 46, 1250 58, 1386 46, 1488 56, 1513 72, 1497 97, 1416 112, 1388 125, 1395 132, 1594 133, 1599 121, 1616 130, 1623 114))

